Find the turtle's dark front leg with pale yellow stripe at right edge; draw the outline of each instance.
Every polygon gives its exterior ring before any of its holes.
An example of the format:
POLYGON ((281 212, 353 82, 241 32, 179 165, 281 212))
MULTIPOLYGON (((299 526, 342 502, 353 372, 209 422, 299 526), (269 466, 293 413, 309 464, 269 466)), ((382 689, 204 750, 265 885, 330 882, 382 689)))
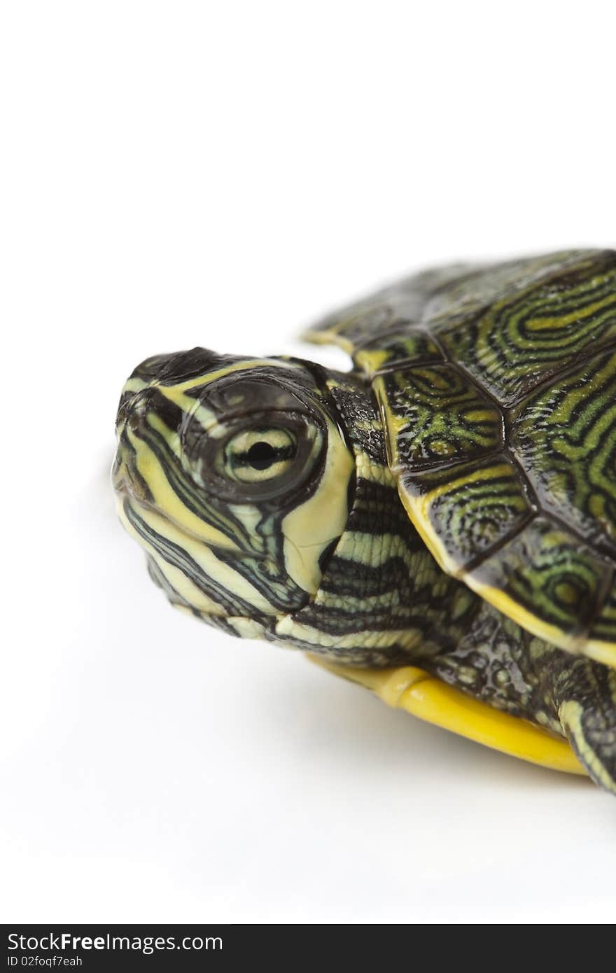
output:
POLYGON ((599 787, 616 794, 616 669, 587 659, 565 661, 553 693, 578 760, 599 787))

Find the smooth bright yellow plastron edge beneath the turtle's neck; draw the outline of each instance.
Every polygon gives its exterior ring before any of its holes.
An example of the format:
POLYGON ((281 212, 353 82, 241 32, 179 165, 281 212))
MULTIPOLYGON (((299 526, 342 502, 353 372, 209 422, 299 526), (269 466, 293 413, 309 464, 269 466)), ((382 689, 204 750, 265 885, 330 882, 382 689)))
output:
POLYGON ((566 740, 553 737, 523 719, 492 709, 487 703, 473 700, 424 669, 414 666, 352 668, 324 662, 318 656, 308 658, 344 679, 372 689, 384 703, 406 709, 419 719, 451 730, 460 737, 474 739, 484 746, 553 771, 586 774, 566 740))

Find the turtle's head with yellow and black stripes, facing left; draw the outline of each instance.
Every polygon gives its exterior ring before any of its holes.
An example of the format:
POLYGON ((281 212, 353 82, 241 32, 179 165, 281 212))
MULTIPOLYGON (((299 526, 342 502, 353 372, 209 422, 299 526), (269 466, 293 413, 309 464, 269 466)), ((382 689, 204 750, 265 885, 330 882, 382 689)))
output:
POLYGON ((316 595, 355 463, 318 366, 204 348, 148 358, 123 390, 120 517, 170 601, 276 637, 316 595))

